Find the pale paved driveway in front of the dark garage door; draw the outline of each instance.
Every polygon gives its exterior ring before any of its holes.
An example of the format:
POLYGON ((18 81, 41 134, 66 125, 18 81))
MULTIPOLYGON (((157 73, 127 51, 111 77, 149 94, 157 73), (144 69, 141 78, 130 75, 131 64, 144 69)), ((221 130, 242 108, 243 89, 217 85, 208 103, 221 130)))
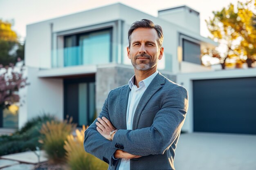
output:
POLYGON ((176 170, 256 170, 256 135, 182 134, 176 170))

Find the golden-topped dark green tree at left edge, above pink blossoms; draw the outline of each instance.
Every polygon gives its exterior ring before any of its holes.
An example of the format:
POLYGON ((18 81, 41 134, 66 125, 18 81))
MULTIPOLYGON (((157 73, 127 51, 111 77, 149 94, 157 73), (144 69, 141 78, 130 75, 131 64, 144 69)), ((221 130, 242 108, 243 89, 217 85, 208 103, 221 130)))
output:
POLYGON ((24 44, 18 42, 18 36, 11 29, 11 23, 0 20, 0 64, 9 66, 24 60, 24 44))

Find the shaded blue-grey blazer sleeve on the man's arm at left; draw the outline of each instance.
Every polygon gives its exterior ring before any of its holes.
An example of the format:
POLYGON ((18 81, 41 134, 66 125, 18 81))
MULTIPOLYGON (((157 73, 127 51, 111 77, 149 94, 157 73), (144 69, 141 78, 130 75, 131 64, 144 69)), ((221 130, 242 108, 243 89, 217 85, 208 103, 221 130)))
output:
MULTIPOLYGON (((110 91, 111 93, 112 91, 110 91)), ((108 114, 108 99, 105 100, 102 111, 99 114, 99 117, 106 117, 107 119, 110 119, 108 114)), ((110 166, 112 166, 112 155, 117 150, 116 148, 111 148, 111 141, 101 136, 101 134, 96 130, 96 122, 97 119, 94 120, 94 122, 89 126, 87 130, 85 130, 85 137, 83 146, 86 152, 94 155, 95 157, 101 159, 102 161, 105 161, 110 166)))

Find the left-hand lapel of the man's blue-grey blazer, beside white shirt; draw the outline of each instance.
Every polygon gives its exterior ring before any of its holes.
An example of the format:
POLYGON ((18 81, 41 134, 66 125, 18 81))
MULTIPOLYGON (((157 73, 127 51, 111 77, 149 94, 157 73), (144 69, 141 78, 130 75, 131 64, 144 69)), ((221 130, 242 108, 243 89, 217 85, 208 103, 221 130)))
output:
POLYGON ((126 86, 121 89, 121 93, 119 96, 119 117, 120 117, 120 126, 121 129, 126 129, 126 112, 127 112, 127 104, 129 99, 130 87, 126 86))

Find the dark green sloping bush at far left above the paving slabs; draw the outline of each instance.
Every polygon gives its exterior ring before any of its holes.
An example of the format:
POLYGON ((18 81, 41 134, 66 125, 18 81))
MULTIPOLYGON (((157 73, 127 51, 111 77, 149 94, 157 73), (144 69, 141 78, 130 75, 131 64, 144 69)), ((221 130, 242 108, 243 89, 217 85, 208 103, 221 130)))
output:
POLYGON ((9 155, 27 150, 36 150, 36 146, 42 147, 38 142, 40 137, 40 128, 43 123, 49 120, 55 120, 53 116, 43 115, 28 121, 20 130, 12 135, 0 136, 0 156, 9 155))

